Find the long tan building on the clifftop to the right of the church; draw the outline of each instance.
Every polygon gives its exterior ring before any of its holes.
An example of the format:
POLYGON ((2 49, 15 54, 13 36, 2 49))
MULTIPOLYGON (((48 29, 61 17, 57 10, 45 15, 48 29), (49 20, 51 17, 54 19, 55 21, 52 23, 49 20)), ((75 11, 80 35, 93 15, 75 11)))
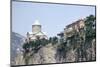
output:
POLYGON ((73 22, 72 24, 67 25, 64 28, 64 31, 59 33, 58 36, 62 37, 64 40, 71 37, 75 32, 80 32, 81 29, 84 29, 85 23, 83 19, 73 22))

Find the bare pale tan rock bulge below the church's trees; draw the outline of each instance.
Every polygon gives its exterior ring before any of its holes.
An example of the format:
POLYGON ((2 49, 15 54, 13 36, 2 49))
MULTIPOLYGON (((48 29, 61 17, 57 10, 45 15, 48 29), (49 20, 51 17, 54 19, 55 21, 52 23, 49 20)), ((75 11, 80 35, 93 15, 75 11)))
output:
POLYGON ((29 64, 45 64, 55 63, 56 50, 51 44, 41 47, 37 53, 33 53, 33 56, 29 59, 29 64))

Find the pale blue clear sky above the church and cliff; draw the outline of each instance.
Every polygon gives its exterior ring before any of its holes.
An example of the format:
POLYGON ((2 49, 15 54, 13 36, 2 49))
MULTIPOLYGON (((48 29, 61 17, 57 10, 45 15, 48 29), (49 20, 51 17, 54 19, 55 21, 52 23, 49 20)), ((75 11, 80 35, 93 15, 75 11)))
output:
POLYGON ((47 36, 56 36, 65 26, 78 19, 95 15, 94 6, 12 2, 12 31, 26 36, 38 20, 47 36))

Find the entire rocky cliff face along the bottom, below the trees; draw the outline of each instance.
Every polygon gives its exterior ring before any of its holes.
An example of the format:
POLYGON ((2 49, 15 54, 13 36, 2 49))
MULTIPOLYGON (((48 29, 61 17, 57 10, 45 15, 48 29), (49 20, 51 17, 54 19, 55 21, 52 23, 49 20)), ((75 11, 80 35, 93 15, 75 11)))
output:
POLYGON ((93 39, 91 45, 92 47, 86 48, 85 52, 82 52, 78 48, 70 48, 66 51, 63 50, 64 48, 60 49, 58 43, 54 45, 49 43, 36 51, 28 52, 26 55, 20 53, 16 57, 16 65, 95 61, 95 39, 93 39))

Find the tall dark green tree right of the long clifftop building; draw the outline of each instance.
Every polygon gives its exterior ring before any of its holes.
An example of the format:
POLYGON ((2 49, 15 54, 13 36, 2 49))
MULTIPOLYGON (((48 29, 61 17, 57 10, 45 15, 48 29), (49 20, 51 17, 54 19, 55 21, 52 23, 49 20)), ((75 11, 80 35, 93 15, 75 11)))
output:
POLYGON ((85 26, 86 26, 86 39, 91 40, 96 37, 96 30, 95 30, 95 23, 96 23, 96 17, 93 15, 90 15, 86 17, 85 20, 85 26))

